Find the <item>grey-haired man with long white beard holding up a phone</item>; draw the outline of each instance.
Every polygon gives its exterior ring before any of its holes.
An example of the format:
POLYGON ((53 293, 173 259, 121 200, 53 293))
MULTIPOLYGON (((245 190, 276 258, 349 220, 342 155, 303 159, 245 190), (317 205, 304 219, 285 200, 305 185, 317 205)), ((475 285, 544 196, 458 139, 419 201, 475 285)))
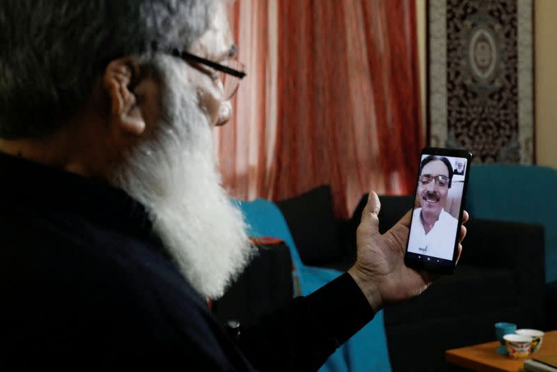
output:
POLYGON ((212 162, 243 75, 221 1, 3 1, 0 30, 4 364, 317 369, 432 281, 371 194, 356 264, 233 341, 206 305, 253 256, 212 162))

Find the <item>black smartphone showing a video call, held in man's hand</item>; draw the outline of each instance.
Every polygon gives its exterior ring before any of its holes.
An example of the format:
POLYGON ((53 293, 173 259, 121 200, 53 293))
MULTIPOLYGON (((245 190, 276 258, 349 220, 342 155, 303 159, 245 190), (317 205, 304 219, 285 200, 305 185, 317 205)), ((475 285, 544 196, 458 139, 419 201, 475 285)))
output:
POLYGON ((468 150, 422 150, 405 254, 409 268, 455 272, 471 160, 468 150))

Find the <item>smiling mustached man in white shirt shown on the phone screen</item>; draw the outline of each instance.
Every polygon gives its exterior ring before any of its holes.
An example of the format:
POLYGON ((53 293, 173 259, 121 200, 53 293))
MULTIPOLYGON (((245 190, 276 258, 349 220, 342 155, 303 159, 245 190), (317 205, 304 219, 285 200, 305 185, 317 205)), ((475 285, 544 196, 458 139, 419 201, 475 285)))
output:
POLYGON ((444 209, 452 182, 453 168, 446 157, 429 155, 422 160, 416 192, 421 207, 412 215, 409 251, 453 259, 458 220, 444 209))

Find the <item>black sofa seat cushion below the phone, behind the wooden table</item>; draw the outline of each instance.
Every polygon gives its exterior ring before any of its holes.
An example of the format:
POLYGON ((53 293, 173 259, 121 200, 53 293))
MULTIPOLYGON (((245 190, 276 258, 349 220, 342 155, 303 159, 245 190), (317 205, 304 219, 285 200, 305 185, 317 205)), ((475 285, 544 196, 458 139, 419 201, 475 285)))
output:
POLYGON ((506 268, 459 265, 422 295, 386 307, 393 371, 444 371, 445 350, 494 341, 494 323, 525 327, 517 276, 506 268))

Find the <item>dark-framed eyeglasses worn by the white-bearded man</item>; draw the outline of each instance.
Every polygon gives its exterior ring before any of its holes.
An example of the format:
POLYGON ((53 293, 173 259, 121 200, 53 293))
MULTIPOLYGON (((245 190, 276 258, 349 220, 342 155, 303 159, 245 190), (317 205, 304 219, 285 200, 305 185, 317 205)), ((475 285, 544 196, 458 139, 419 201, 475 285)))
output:
POLYGON ((223 86, 224 100, 230 100, 230 98, 235 95, 238 87, 240 86, 240 80, 246 76, 244 63, 237 61, 237 59, 228 59, 226 62, 221 64, 201 58, 195 54, 180 52, 178 49, 174 49, 172 54, 173 56, 178 56, 181 59, 201 63, 202 65, 206 65, 207 67, 219 71, 219 78, 221 79, 223 86))

